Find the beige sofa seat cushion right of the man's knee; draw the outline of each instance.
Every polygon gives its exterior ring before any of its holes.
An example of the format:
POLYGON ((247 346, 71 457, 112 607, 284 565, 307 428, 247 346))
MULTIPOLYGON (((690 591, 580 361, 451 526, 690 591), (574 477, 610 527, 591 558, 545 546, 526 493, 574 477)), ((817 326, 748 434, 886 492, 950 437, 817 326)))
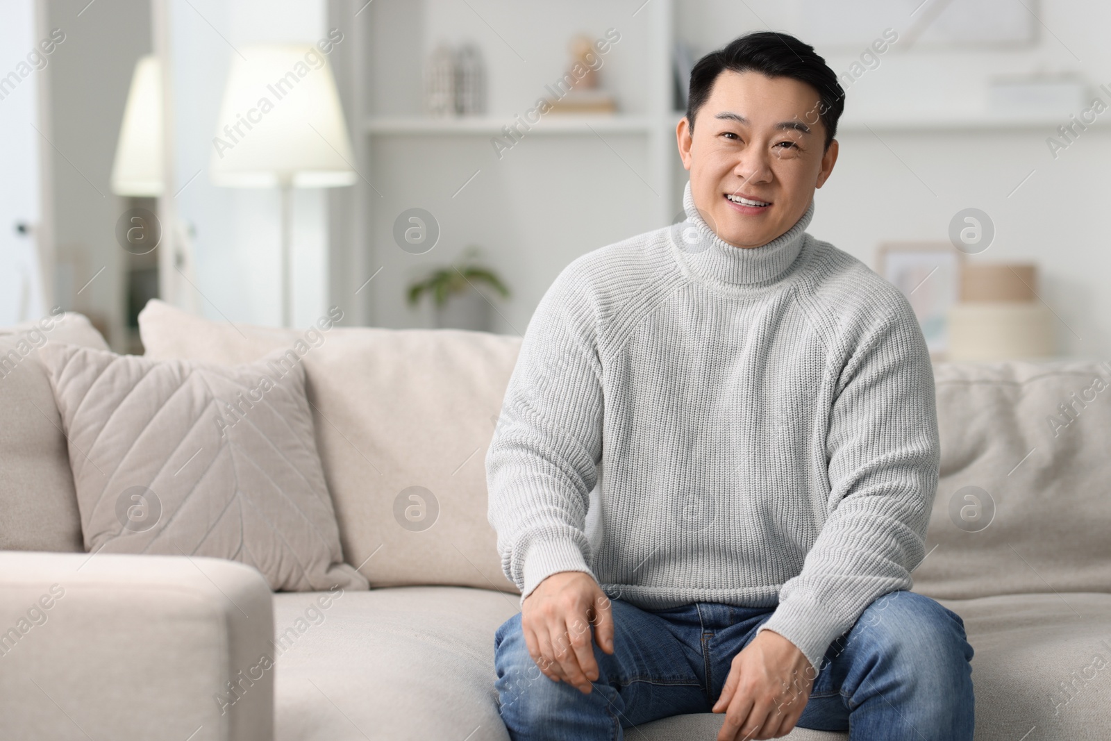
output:
POLYGON ((1111 594, 1044 592, 939 601, 961 615, 975 651, 978 740, 1108 738, 1111 594))

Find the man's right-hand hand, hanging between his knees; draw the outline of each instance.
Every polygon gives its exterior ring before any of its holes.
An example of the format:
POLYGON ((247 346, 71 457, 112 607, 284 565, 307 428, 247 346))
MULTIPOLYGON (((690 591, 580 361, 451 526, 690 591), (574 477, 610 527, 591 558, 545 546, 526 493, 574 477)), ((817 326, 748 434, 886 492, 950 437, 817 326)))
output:
POLYGON ((814 677, 814 668, 794 643, 772 630, 760 631, 733 657, 713 705, 713 712, 725 713, 718 741, 787 735, 807 707, 814 677))

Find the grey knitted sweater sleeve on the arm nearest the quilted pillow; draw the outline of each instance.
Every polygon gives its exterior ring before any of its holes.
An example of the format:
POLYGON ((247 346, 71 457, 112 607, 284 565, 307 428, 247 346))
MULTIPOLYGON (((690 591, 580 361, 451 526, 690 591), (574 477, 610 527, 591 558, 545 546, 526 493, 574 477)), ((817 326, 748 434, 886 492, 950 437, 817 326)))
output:
POLYGON ((577 260, 529 321, 487 451, 488 519, 522 604, 559 571, 597 580, 585 534, 602 451, 595 327, 595 302, 577 260))

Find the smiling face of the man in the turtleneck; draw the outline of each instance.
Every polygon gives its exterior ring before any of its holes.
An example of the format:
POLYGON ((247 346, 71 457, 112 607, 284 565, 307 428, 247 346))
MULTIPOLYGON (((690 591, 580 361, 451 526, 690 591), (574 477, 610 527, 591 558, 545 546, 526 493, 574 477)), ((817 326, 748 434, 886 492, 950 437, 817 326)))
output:
POLYGON ((835 139, 822 151, 820 110, 804 82, 725 70, 695 112, 693 133, 685 118, 679 122, 694 206, 718 237, 760 247, 802 217, 837 161, 835 139), (742 197, 769 206, 737 202, 742 197))

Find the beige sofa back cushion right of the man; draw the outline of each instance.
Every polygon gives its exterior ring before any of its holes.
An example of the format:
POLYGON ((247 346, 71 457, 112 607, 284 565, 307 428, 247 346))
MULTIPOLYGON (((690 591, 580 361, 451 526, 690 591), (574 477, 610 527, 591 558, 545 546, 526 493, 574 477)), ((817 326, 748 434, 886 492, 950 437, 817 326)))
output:
POLYGON ((1111 592, 1111 369, 953 362, 934 378, 941 478, 914 591, 1111 592))

